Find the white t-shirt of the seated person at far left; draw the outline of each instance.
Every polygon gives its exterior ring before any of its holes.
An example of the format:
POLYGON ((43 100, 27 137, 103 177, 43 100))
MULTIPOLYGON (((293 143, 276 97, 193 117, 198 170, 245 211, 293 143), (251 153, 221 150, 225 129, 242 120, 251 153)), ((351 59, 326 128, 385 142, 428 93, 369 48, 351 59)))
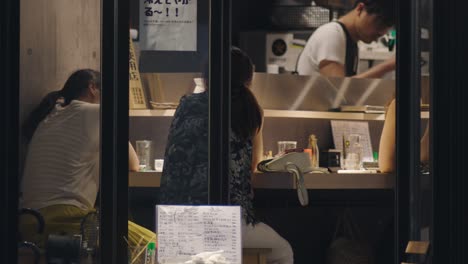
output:
POLYGON ((21 206, 94 207, 99 188, 99 104, 59 104, 29 143, 21 183, 21 206))

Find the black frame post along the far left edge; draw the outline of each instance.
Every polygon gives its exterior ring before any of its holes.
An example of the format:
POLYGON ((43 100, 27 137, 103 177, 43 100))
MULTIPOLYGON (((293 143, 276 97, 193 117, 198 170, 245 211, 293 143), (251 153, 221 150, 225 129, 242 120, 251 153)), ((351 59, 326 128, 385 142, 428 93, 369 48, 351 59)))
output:
POLYGON ((19 32, 20 1, 1 4, 0 24, 0 256, 5 263, 17 259, 17 211, 19 189, 19 32))

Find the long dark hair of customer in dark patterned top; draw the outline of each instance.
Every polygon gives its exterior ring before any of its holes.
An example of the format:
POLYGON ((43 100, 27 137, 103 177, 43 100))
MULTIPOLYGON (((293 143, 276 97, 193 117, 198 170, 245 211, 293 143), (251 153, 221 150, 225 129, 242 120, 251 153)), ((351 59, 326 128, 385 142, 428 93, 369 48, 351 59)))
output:
MULTIPOLYGON (((237 47, 231 48, 231 129, 241 139, 255 136, 262 126, 263 111, 248 84, 254 66, 250 57, 237 47)), ((208 85, 208 64, 203 78, 208 85)))

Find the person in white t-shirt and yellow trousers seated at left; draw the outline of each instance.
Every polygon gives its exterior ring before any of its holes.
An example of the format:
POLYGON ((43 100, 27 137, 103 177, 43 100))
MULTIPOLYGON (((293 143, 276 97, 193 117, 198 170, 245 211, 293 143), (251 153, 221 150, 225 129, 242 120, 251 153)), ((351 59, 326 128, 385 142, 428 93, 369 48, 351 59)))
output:
MULTIPOLYGON (((23 128, 28 141, 20 206, 38 210, 45 232, 36 235, 33 218, 22 217, 23 238, 43 246, 48 234, 79 234, 99 190, 100 73, 78 70, 60 91, 49 93, 23 128)), ((129 143, 129 168, 138 158, 129 143)), ((105 184, 105 183, 104 183, 105 184)), ((155 234, 129 222, 129 242, 136 245, 155 234)))

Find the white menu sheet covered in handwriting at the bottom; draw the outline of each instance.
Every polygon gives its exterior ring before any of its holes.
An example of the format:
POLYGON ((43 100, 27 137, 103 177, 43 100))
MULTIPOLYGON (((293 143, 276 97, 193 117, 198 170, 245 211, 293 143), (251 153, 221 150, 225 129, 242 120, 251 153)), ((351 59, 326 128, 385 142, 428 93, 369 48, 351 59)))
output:
POLYGON ((156 206, 158 263, 183 263, 201 252, 223 250, 242 263, 240 206, 156 206))

